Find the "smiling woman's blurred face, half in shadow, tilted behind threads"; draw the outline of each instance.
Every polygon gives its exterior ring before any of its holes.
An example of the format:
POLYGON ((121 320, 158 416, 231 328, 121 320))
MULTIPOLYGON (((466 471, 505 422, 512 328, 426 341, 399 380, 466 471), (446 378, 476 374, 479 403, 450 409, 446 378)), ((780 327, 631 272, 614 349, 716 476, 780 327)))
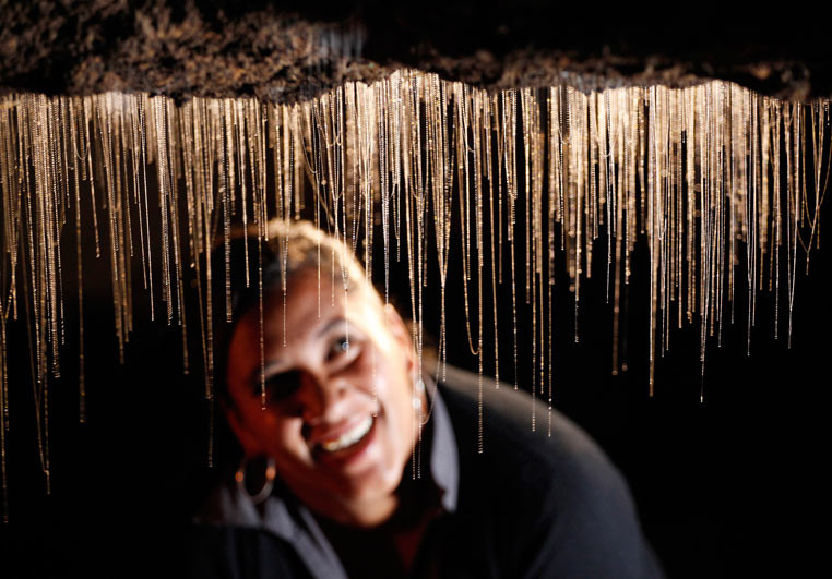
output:
POLYGON ((265 408, 260 381, 260 316, 240 319, 228 350, 228 419, 245 451, 275 460, 278 477, 312 510, 369 527, 397 504, 413 449, 414 353, 392 307, 359 280, 345 294, 336 275, 306 269, 263 314, 265 408), (285 324, 284 324, 285 315, 285 324), (285 328, 285 333, 284 333, 285 328))

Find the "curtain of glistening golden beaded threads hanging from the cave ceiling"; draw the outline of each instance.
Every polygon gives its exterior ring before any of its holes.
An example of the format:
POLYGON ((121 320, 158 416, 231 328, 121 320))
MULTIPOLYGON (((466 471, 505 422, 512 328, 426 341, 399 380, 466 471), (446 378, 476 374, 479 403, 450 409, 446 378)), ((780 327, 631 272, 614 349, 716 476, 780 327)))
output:
MULTIPOLYGON (((60 375, 59 347, 67 339, 64 306, 69 306, 63 299, 61 246, 73 241, 79 266, 81 420, 85 417, 82 218, 92 224, 95 258, 107 260, 110 267, 122 358, 133 327, 133 304, 140 299, 131 263, 141 260, 140 282, 146 290, 141 299, 150 301, 155 316, 154 287, 161 287, 164 317, 181 327, 188 372, 192 355, 185 310, 193 302, 186 300, 185 279, 191 270, 209 399, 214 309, 224 309, 228 317, 231 312, 233 224, 253 221, 258 236, 265 239, 269 218, 297 218, 311 210, 317 225, 364 258, 368 278, 378 267, 371 257, 379 243, 375 228, 380 225, 385 299, 390 261, 406 253, 419 375, 428 264, 436 260, 439 272, 442 376, 449 260, 459 251, 466 335, 479 369, 482 451, 484 288, 490 285, 494 373, 499 379, 498 287, 510 286, 504 291, 512 303, 515 388, 516 288, 524 288, 533 312, 532 393, 545 396, 551 409, 556 255, 563 256, 575 295, 577 331, 581 284, 590 276, 593 250, 598 250, 593 243, 606 241, 602 258, 614 309, 617 373, 625 365, 618 352, 622 286, 631 274, 637 238, 645 236, 651 394, 654 358, 667 349, 671 325, 698 322, 704 364, 706 338, 722 336, 723 307, 733 302, 742 252, 749 336, 758 289, 778 295, 784 284, 791 333, 797 251, 803 248, 808 255, 818 240, 819 208, 829 178, 829 101, 782 101, 718 81, 681 88, 580 91, 563 84, 486 92, 406 70, 372 85, 347 83, 290 105, 193 98, 178 106, 166 97, 116 93, 0 97, 3 488, 7 324, 19 316, 29 329, 40 461, 49 484, 48 384, 50 374, 60 375), (808 167, 806 159, 811 159, 808 167), (305 200, 305 191, 313 192, 312 203, 305 200), (459 224, 456 248, 452 224, 459 224), (212 270, 210 255, 217 241, 225 248, 225 272, 212 270), (781 262, 787 270, 785 281, 780 278, 781 262), (222 299, 212 292, 216 276, 226 280, 222 299), (484 276, 490 276, 490 282, 484 276), (676 319, 671 302, 677 304, 676 319)), ((248 261, 248 251, 245 254, 248 261)), ((286 260, 285 242, 282 258, 286 260)), ((260 265, 257 278, 246 281, 259 287, 262 336, 260 265)), ((248 275, 248 262, 246 266, 248 275)), ((333 287, 340 275, 347 291, 347 268, 332 275, 333 287)), ((285 292, 285 279, 282 287, 285 292)), ((775 306, 775 327, 777 316, 775 306)), ((261 337, 261 371, 262 348, 261 337)), ((549 431, 550 418, 549 413, 549 431)), ((534 413, 532 427, 536 427, 534 413)), ((414 455, 415 472, 419 463, 414 455)))

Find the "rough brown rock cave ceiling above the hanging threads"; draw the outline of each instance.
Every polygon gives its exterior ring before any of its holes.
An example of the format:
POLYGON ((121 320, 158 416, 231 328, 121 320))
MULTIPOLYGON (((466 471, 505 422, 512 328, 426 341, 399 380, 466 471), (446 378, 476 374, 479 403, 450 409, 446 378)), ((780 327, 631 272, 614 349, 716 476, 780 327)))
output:
POLYGON ((0 88, 292 101, 406 67, 489 88, 703 79, 832 94, 808 11, 516 1, 0 1, 0 88))

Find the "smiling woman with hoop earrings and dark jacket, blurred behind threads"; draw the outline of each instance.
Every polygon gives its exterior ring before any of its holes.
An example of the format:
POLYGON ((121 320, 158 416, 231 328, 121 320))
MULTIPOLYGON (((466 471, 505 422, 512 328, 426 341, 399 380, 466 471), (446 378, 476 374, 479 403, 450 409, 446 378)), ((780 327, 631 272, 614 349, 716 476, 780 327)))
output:
POLYGON ((531 432, 531 397, 501 388, 488 450, 468 450, 476 377, 419 375, 407 326, 346 245, 306 222, 258 239, 235 244, 262 279, 230 270, 217 358, 243 458, 193 526, 193 577, 661 577, 582 431, 556 412, 551 436, 531 432))

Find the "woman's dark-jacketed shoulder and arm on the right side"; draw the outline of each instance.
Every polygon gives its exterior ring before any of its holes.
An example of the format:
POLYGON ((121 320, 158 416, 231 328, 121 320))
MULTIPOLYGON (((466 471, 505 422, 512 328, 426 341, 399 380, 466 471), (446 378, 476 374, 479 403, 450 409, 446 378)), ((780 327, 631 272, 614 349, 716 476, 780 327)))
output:
POLYGON ((627 483, 597 444, 494 378, 483 378, 480 414, 479 381, 449 366, 439 391, 459 447, 460 509, 490 529, 510 575, 661 577, 627 483))

